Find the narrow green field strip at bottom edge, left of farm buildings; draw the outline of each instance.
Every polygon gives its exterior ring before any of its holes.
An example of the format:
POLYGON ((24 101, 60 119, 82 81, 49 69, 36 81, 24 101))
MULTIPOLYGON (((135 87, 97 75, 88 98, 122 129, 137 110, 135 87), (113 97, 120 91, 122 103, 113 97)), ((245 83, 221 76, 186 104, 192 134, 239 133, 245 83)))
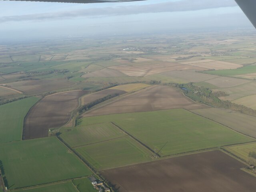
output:
POLYGON ((16 192, 77 192, 77 190, 71 182, 65 182, 16 192))

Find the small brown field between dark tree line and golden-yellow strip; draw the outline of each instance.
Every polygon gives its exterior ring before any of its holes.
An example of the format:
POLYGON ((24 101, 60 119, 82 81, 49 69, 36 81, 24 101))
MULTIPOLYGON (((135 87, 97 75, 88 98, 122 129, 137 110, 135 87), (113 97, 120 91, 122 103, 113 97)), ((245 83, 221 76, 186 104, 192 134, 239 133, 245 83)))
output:
POLYGON ((85 105, 85 104, 93 102, 93 101, 95 101, 97 99, 100 99, 100 98, 103 98, 105 96, 108 96, 110 94, 122 95, 122 94, 125 94, 125 93, 127 93, 127 92, 123 91, 123 90, 106 89, 106 90, 102 90, 102 91, 99 91, 99 92, 96 92, 96 93, 85 95, 85 96, 82 97, 81 101, 82 101, 82 105, 85 105))

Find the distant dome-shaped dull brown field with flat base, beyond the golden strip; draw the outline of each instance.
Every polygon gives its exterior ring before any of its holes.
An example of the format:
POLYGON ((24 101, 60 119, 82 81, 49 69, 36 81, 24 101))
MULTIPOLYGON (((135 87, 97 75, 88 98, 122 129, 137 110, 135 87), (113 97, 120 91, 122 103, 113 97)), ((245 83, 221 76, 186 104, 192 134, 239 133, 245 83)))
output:
POLYGON ((82 77, 87 78, 87 77, 124 77, 126 76, 122 72, 114 69, 108 69, 104 68, 102 70, 94 71, 91 73, 86 73, 82 75, 82 77))

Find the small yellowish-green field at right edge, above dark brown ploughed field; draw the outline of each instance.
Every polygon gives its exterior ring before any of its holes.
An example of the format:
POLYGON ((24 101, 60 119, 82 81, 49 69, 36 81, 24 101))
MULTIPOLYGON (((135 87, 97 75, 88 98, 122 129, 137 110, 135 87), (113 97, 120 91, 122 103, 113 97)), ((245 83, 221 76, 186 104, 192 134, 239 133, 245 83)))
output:
POLYGON ((228 146, 224 149, 228 150, 232 154, 242 158, 246 162, 249 160, 249 153, 250 152, 256 152, 256 143, 248 143, 248 144, 242 144, 242 145, 234 145, 234 146, 228 146))

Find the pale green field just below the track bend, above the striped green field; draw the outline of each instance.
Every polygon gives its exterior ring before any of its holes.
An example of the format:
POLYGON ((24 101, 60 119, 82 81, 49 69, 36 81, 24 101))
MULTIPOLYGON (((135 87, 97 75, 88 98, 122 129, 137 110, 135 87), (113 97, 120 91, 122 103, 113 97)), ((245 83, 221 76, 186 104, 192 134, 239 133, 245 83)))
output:
POLYGON ((126 136, 124 132, 111 123, 62 128, 60 137, 71 147, 88 145, 118 137, 126 136))

